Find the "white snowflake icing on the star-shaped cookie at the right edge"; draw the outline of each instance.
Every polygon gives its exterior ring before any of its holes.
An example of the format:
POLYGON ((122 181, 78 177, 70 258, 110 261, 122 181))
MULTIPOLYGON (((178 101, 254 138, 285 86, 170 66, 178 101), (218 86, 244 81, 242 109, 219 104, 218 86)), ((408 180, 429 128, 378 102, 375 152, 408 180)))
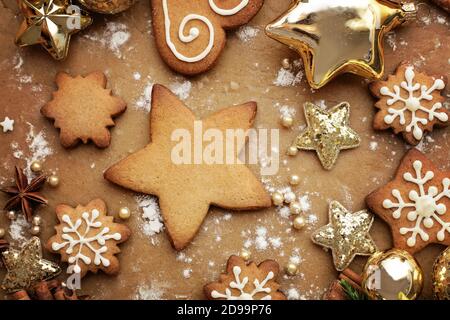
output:
POLYGON ((400 218, 403 209, 411 208, 411 210, 407 213, 406 218, 409 221, 415 221, 414 227, 400 228, 400 234, 402 235, 411 233, 411 236, 406 241, 409 247, 415 246, 417 235, 419 235, 423 241, 428 242, 430 237, 425 230, 433 227, 435 222, 442 227, 437 232, 436 238, 438 241, 444 241, 445 232, 447 231, 450 233, 450 222, 446 222, 441 219, 440 216, 447 212, 447 208, 445 204, 438 203, 438 201, 443 197, 450 198, 450 179, 442 179, 441 193, 438 193, 438 188, 434 185, 429 186, 428 191, 425 191, 425 184, 433 179, 434 172, 427 171, 425 175, 422 176, 422 162, 419 160, 414 161, 413 168, 415 170, 415 177, 410 172, 406 172, 403 175, 403 179, 415 184, 418 187, 418 192, 414 189, 410 190, 408 193, 410 202, 405 202, 400 191, 398 189, 393 189, 392 195, 398 202, 392 202, 390 199, 385 199, 383 201, 383 207, 386 209, 396 209, 392 213, 392 217, 394 219, 400 218), (422 228, 422 224, 425 229, 422 228))

